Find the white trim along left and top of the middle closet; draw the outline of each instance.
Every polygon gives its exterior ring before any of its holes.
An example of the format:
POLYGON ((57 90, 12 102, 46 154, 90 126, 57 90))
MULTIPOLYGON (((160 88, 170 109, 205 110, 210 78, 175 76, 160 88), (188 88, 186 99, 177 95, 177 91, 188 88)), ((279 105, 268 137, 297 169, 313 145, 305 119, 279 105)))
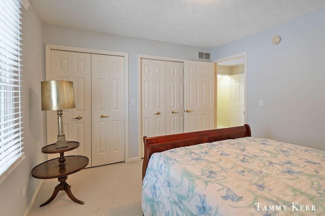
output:
POLYGON ((138 79, 138 83, 139 83, 139 87, 138 87, 138 104, 139 104, 139 110, 138 110, 138 116, 139 116, 139 144, 138 144, 138 155, 139 155, 139 159, 144 157, 144 146, 143 146, 143 137, 142 137, 142 115, 141 115, 141 100, 142 100, 142 96, 141 96, 141 60, 142 59, 151 59, 151 60, 159 60, 159 61, 171 61, 171 62, 182 62, 184 63, 185 60, 187 59, 178 59, 178 58, 170 58, 170 57, 162 57, 162 56, 152 56, 152 55, 142 55, 139 54, 138 55, 138 74, 139 74, 139 79, 138 79))

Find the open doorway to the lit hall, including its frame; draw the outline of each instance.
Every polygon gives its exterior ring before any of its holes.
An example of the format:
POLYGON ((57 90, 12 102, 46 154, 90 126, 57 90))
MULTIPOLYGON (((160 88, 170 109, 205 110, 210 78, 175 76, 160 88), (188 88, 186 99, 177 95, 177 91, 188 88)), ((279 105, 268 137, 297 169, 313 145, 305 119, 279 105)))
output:
POLYGON ((215 60, 216 128, 244 125, 247 122, 246 53, 215 60))

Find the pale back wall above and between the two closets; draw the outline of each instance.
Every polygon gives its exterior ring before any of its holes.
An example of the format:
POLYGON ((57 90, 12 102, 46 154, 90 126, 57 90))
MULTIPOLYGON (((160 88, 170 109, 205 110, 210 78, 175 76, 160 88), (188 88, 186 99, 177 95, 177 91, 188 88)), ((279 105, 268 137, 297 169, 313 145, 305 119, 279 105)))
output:
MULTIPOLYGON (((44 44, 124 52, 129 55, 129 158, 139 157, 139 65, 138 55, 196 60, 198 51, 209 49, 169 44, 54 25, 43 25, 44 44), (137 106, 131 101, 136 99, 137 106)), ((143 145, 143 143, 141 143, 143 145)))

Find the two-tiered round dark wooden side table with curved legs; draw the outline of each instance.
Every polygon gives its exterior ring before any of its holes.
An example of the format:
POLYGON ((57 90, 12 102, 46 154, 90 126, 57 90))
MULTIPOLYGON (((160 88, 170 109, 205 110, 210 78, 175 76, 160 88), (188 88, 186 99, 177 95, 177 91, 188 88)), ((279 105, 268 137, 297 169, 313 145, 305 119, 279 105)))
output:
POLYGON ((31 176, 37 179, 54 179, 57 178, 60 182, 53 191, 52 196, 43 204, 44 206, 49 204, 57 195, 59 191, 66 191, 67 195, 73 201, 84 204, 84 201, 77 199, 70 190, 70 185, 66 182, 68 175, 74 174, 75 172, 85 168, 89 159, 85 156, 67 156, 64 157, 64 152, 76 149, 79 147, 78 142, 68 142, 68 147, 55 148, 55 144, 51 144, 42 148, 43 153, 54 154, 60 153, 59 158, 54 158, 48 161, 45 161, 31 170, 31 176))

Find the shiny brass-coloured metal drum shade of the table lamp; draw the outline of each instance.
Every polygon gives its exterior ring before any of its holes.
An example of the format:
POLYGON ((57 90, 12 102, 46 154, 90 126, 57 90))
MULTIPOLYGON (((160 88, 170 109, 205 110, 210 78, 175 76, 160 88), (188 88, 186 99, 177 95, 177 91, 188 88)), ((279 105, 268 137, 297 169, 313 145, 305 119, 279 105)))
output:
POLYGON ((72 81, 41 82, 42 110, 63 110, 76 107, 72 81))

